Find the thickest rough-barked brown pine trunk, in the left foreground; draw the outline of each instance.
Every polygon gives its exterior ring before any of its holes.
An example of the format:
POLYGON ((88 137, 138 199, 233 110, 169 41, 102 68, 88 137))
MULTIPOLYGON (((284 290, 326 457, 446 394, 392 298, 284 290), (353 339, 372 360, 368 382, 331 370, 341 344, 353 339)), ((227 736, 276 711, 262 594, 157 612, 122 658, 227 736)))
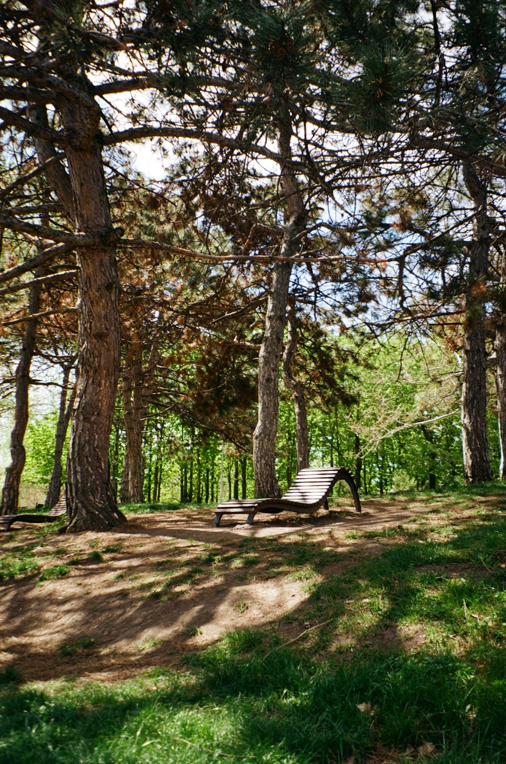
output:
POLYGON ((106 530, 126 521, 118 510, 108 459, 120 369, 117 236, 98 142, 100 110, 66 101, 60 113, 64 127, 73 130, 66 159, 77 230, 96 240, 77 251, 79 354, 67 462, 67 530, 106 530))

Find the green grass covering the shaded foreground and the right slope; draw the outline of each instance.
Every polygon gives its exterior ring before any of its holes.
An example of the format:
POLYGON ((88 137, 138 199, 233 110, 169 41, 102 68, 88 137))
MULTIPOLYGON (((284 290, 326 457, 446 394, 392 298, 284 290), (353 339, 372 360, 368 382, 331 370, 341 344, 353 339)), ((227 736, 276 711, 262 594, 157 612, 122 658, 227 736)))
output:
MULTIPOLYGON (((412 522, 358 528, 346 554, 328 535, 218 537, 173 550, 153 562, 156 588, 142 596, 247 568, 259 580, 296 582, 308 599, 279 626, 231 631, 190 648, 177 670, 133 681, 23 685, 22 663, 8 667, 0 762, 504 764, 503 496, 475 487, 445 495, 437 514, 430 501, 412 522)), ((11 568, 36 552, 11 547, 11 568)), ((248 602, 234 610, 246 617, 248 602)), ((192 625, 185 636, 199 633, 192 625)), ((66 649, 92 646, 83 642, 66 649)))

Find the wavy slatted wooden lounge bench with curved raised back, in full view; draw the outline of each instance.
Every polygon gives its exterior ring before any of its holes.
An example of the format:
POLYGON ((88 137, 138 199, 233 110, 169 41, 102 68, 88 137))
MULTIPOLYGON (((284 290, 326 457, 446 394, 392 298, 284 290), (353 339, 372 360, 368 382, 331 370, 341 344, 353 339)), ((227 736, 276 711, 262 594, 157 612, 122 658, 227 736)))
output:
POLYGON ((353 480, 353 474, 346 467, 321 467, 301 470, 295 481, 280 499, 237 499, 224 501, 214 510, 214 524, 219 526, 223 515, 246 514, 247 523, 253 523, 257 512, 278 513, 297 512, 311 514, 325 507, 328 510, 328 497, 337 481, 345 481, 353 494, 357 512, 362 512, 359 492, 353 480))

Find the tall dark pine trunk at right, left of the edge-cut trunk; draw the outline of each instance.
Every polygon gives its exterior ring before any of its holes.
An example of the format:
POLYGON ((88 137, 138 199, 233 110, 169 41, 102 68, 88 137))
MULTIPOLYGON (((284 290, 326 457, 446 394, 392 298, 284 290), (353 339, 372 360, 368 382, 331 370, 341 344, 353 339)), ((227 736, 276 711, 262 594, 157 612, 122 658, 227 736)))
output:
POLYGON ((463 165, 463 175, 475 207, 475 222, 469 245, 469 282, 462 343, 462 452, 466 483, 482 483, 493 477, 486 430, 488 364, 484 306, 490 223, 486 184, 469 162, 463 165))

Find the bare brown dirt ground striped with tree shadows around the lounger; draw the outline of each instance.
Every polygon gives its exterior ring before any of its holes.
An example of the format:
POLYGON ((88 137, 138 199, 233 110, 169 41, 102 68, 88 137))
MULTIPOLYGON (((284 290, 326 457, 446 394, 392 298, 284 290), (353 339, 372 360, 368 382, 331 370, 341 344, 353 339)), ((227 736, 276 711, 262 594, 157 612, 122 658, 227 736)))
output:
POLYGON ((325 569, 334 575, 350 564, 346 555, 356 562, 395 543, 364 539, 364 532, 407 523, 437 502, 364 500, 357 515, 338 500, 311 517, 257 515, 253 526, 224 518, 219 528, 210 510, 131 515, 114 533, 40 536, 36 526, 22 526, 0 538, 0 550, 29 546, 40 569, 0 581, 0 669, 14 663, 26 681, 115 681, 177 665, 237 627, 282 620, 291 639, 311 628, 309 594, 283 571, 268 539, 278 549, 279 542, 316 542, 336 552, 325 569), (68 565, 66 575, 40 581, 55 565, 68 565))

